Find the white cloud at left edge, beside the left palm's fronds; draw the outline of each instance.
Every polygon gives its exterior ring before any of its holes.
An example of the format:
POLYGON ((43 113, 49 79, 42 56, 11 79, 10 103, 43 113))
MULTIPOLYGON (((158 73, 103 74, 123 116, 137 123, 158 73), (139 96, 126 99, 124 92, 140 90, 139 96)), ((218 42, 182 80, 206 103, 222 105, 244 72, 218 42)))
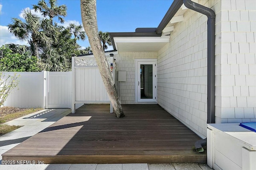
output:
POLYGON ((27 41, 20 41, 14 35, 9 33, 7 26, 0 25, 0 46, 10 43, 28 45, 27 41))

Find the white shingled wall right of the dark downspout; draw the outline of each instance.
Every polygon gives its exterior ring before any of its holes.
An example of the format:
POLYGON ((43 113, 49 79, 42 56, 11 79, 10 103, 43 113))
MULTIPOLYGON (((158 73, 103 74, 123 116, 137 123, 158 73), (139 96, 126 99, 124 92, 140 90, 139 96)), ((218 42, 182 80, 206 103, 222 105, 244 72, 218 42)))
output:
POLYGON ((256 1, 222 0, 216 20, 216 123, 256 121, 256 1))

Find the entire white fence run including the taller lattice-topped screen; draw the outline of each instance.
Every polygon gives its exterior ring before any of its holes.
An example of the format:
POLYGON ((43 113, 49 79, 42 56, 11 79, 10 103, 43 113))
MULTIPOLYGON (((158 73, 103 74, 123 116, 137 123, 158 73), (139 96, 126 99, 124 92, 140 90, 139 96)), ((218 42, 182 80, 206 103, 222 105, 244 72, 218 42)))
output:
MULTIPOLYGON (((114 73, 113 57, 107 60, 114 73)), ((15 73, 19 75, 18 86, 9 94, 4 106, 72 108, 74 113, 83 104, 110 103, 94 57, 72 57, 72 72, 4 72, 6 75, 15 73)))

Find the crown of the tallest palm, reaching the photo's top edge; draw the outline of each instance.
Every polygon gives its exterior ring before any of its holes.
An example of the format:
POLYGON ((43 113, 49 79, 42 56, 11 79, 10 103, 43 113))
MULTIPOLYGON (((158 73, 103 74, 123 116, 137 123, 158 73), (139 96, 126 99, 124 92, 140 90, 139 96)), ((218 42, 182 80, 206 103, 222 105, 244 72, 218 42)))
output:
POLYGON ((37 5, 33 5, 33 9, 37 12, 42 12, 43 16, 49 16, 50 21, 53 25, 52 18, 58 17, 60 23, 64 23, 65 20, 60 16, 67 16, 67 7, 66 5, 57 5, 57 0, 49 0, 50 6, 47 6, 45 0, 40 0, 37 5))

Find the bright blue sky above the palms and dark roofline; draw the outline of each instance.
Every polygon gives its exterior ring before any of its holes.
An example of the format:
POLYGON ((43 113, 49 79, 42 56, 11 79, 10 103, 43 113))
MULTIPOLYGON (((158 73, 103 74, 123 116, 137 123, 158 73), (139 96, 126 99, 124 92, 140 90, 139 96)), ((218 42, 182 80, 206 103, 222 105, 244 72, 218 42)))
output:
MULTIPOLYGON (((1 46, 5 43, 26 44, 8 33, 7 25, 11 23, 11 18, 22 19, 24 9, 32 9, 32 4, 37 3, 38 0, 0 0, 1 46)), ((63 25, 82 24, 80 0, 58 0, 58 5, 62 4, 68 8, 63 25)), ((134 32, 137 27, 157 27, 171 4, 172 0, 97 0, 98 29, 104 32, 134 32)), ((57 18, 54 21, 59 23, 57 18)), ((89 46, 88 39, 78 43, 82 47, 89 46)))

